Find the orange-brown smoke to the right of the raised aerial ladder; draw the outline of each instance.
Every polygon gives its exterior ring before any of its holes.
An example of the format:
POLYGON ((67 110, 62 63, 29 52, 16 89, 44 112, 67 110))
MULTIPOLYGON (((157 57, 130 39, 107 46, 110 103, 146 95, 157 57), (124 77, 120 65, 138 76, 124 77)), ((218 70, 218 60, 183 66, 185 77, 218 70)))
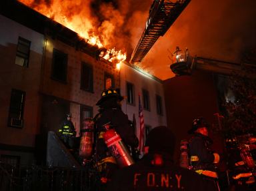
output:
POLYGON ((192 56, 239 63, 241 53, 256 47, 254 7, 253 0, 191 0, 141 65, 155 66, 153 74, 161 79, 173 77, 167 49, 173 52, 176 46, 192 56))

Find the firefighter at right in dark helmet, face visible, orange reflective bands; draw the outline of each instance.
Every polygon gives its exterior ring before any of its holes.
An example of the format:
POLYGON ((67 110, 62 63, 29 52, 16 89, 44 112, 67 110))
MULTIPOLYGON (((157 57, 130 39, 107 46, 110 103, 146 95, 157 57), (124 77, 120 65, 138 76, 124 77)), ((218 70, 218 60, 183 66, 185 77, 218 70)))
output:
POLYGON ((208 136, 209 124, 204 118, 195 118, 189 134, 193 134, 189 140, 190 162, 192 169, 209 182, 211 188, 219 190, 218 176, 215 164, 219 162, 219 154, 211 150, 213 140, 208 136))

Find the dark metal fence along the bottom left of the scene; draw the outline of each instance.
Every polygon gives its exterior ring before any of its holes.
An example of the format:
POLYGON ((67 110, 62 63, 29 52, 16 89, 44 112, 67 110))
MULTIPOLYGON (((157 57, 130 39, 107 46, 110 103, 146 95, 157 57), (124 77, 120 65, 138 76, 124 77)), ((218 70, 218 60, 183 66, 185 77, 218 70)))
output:
POLYGON ((43 166, 15 167, 0 162, 1 191, 95 191, 99 174, 91 166, 61 168, 43 166))

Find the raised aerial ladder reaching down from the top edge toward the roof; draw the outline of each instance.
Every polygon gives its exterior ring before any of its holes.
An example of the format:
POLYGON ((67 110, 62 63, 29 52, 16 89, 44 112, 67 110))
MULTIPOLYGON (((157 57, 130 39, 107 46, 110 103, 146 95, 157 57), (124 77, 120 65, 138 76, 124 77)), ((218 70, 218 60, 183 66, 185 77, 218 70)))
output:
POLYGON ((146 27, 131 55, 130 63, 141 62, 160 36, 165 35, 191 0, 155 0, 149 10, 146 27))

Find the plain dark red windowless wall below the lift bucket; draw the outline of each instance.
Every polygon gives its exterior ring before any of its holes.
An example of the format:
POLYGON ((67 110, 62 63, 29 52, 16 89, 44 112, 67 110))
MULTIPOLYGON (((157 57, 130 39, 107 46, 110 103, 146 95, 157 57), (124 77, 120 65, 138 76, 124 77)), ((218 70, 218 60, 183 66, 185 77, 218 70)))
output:
MULTIPOLYGON (((202 116, 211 124, 217 121, 214 114, 219 112, 217 90, 213 74, 205 71, 194 71, 192 75, 174 77, 164 82, 167 123, 173 130, 176 140, 175 159, 179 159, 179 146, 183 139, 189 140, 193 119, 202 116)), ((214 148, 221 150, 223 142, 219 135, 209 136, 214 140, 214 148)))

